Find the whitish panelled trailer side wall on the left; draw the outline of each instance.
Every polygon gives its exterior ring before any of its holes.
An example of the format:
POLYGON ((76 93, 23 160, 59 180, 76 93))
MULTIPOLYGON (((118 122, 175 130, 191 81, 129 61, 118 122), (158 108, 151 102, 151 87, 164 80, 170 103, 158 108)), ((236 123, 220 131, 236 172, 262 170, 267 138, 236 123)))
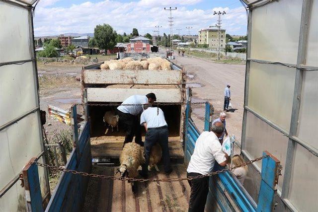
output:
MULTIPOLYGON (((1 211, 26 210, 19 173, 32 157, 44 162, 31 12, 16 1, 0 1, 1 196, 9 188, 0 198, 1 211)), ((42 167, 39 177, 44 200, 50 190, 42 167)))

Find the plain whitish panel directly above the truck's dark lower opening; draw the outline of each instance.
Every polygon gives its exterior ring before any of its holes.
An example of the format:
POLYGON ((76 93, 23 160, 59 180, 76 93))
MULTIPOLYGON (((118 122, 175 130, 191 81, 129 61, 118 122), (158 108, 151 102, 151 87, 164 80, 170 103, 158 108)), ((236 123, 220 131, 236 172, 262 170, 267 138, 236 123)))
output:
POLYGON ((158 102, 182 102, 180 88, 87 88, 88 102, 123 102, 132 95, 155 93, 158 102))

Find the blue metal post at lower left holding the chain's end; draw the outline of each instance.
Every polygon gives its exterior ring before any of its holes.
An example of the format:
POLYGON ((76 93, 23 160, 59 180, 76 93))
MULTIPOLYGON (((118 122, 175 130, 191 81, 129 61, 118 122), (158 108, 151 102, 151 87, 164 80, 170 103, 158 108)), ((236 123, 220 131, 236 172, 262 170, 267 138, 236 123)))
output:
POLYGON ((36 157, 33 157, 23 168, 23 181, 25 186, 25 199, 27 202, 27 210, 34 212, 42 212, 42 197, 39 179, 39 170, 37 165, 31 164, 36 157))

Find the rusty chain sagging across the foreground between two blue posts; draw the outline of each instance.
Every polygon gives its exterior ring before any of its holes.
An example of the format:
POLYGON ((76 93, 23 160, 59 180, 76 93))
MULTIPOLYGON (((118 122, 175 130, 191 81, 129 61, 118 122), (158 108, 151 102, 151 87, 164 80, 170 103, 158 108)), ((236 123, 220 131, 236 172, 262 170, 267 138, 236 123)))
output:
POLYGON ((66 169, 66 168, 62 168, 62 167, 58 167, 58 166, 51 166, 48 164, 44 164, 44 163, 39 163, 39 162, 31 162, 31 164, 35 164, 38 166, 42 166, 44 168, 50 168, 52 170, 57 170, 57 171, 62 171, 62 172, 66 172, 66 173, 72 173, 72 174, 78 174, 78 175, 82 175, 82 176, 89 176, 89 177, 95 177, 95 178, 101 178, 101 179, 108 179, 108 180, 122 180, 122 181, 135 181, 135 182, 175 182, 175 181, 183 181, 183 180, 194 180, 194 179, 198 179, 198 178, 203 178, 203 177, 209 177, 212 175, 216 175, 216 174, 220 174, 226 171, 232 171, 233 169, 254 163, 258 160, 262 160, 266 157, 268 157, 269 155, 264 155, 262 157, 258 157, 255 158, 253 160, 249 160, 245 163, 242 163, 238 166, 235 167, 231 167, 231 168, 227 168, 227 169, 222 169, 219 171, 215 171, 209 174, 204 174, 204 175, 198 175, 196 177, 189 177, 189 178, 162 178, 162 179, 157 179, 157 178, 149 178, 149 179, 136 179, 136 178, 124 178, 124 177, 115 177, 115 176, 106 176, 106 175, 99 175, 99 174, 89 174, 86 172, 81 172, 81 171, 76 171, 76 170, 71 170, 71 169, 66 169))

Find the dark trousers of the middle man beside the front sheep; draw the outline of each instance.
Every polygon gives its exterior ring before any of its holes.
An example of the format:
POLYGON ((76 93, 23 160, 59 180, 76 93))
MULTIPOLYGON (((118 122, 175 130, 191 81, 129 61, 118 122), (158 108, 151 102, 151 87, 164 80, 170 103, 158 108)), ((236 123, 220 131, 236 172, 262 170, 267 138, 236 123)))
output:
POLYGON ((168 128, 151 129, 147 131, 146 139, 144 143, 146 162, 144 165, 142 165, 143 174, 145 175, 148 174, 148 165, 149 165, 149 157, 151 153, 151 148, 156 144, 156 142, 159 142, 159 145, 161 146, 161 149, 162 149, 164 171, 168 172, 171 170, 169 147, 168 147, 168 136, 169 136, 168 128))

